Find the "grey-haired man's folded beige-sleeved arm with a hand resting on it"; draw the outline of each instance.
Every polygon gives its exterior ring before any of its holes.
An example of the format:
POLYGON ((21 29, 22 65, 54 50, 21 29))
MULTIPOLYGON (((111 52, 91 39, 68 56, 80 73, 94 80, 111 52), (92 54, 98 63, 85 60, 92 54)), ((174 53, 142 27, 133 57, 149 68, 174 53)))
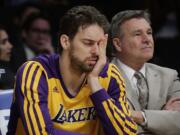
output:
POLYGON ((145 110, 147 129, 155 134, 177 135, 180 133, 179 98, 174 98, 180 97, 180 82, 177 72, 172 72, 169 77, 171 77, 169 80, 171 83, 170 86, 166 86, 168 87, 168 101, 164 108, 161 108, 162 110, 145 110))

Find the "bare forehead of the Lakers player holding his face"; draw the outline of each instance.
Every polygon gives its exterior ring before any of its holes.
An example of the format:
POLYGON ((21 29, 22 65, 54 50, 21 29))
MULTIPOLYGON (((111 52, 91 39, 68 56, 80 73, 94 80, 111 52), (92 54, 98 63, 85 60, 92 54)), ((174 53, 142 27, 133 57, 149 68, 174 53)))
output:
POLYGON ((97 24, 89 25, 86 27, 80 26, 76 36, 84 39, 98 41, 104 36, 104 30, 97 24))

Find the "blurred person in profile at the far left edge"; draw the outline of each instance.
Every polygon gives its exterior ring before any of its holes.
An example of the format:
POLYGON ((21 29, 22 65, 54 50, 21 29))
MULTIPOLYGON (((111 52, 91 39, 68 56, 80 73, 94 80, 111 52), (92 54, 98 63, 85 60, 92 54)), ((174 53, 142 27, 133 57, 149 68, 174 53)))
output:
POLYGON ((14 74, 10 69, 12 44, 9 42, 8 33, 0 25, 0 90, 12 89, 14 74))

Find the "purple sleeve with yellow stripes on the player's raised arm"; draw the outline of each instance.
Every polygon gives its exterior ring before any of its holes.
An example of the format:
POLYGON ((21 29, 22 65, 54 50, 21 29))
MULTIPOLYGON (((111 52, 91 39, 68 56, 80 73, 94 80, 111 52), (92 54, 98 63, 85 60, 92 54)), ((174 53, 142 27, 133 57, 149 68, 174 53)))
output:
POLYGON ((91 99, 107 135, 133 135, 137 127, 130 116, 123 80, 115 79, 121 78, 119 75, 114 74, 108 90, 101 88, 91 95, 91 99))

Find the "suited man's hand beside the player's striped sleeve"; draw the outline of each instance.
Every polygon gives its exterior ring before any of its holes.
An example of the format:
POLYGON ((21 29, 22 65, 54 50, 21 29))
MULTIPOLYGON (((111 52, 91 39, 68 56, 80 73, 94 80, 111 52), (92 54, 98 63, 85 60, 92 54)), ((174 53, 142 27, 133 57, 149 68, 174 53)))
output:
POLYGON ((145 121, 141 111, 131 111, 131 117, 137 124, 141 124, 145 121))

